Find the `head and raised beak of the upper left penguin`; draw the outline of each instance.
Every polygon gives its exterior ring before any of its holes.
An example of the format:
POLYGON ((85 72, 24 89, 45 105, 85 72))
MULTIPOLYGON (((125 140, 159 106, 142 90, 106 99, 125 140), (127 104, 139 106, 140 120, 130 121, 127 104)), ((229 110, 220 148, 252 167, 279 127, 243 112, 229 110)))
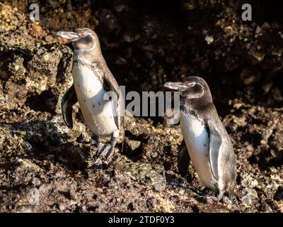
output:
POLYGON ((98 36, 90 28, 77 28, 75 32, 59 31, 57 36, 71 40, 75 50, 100 48, 98 36))

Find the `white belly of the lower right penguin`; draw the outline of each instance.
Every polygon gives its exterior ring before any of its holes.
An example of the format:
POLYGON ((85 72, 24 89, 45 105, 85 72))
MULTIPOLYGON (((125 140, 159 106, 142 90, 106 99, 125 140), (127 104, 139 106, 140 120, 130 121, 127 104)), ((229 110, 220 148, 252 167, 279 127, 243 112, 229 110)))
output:
POLYGON ((180 126, 197 175, 206 187, 215 189, 209 163, 209 136, 204 124, 195 116, 188 116, 180 111, 180 126))

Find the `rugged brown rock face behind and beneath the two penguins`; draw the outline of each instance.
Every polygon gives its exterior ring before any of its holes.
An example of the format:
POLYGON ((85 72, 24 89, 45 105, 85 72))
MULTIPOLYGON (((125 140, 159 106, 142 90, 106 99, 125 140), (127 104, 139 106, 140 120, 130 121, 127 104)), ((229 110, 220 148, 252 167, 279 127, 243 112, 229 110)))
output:
POLYGON ((282 212, 283 21, 276 3, 249 2, 250 22, 242 1, 39 1, 33 23, 28 1, 2 1, 0 211, 282 212), (53 34, 79 27, 98 33, 127 91, 207 80, 236 152, 238 204, 200 196, 192 166, 178 175, 180 126, 162 118, 127 117, 125 150, 96 163, 79 106, 72 130, 60 109, 72 50, 53 34))

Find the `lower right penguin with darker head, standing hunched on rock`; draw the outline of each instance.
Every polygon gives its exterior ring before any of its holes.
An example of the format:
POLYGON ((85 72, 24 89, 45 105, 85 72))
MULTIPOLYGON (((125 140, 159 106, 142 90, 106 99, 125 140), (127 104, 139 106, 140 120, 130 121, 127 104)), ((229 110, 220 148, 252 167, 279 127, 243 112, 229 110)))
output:
POLYGON ((229 135, 212 101, 207 82, 187 77, 185 82, 167 82, 164 87, 180 92, 180 126, 183 141, 178 152, 178 170, 187 175, 190 160, 205 187, 224 193, 233 201, 236 184, 236 156, 229 135))

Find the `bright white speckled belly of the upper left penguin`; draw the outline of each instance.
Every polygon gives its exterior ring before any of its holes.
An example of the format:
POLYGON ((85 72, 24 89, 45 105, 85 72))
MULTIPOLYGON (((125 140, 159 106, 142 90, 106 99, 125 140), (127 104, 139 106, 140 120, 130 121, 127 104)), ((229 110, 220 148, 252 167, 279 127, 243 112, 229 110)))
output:
POLYGON ((100 137, 110 137, 117 128, 111 101, 103 100, 105 89, 88 67, 73 67, 73 80, 81 112, 91 132, 100 137))

